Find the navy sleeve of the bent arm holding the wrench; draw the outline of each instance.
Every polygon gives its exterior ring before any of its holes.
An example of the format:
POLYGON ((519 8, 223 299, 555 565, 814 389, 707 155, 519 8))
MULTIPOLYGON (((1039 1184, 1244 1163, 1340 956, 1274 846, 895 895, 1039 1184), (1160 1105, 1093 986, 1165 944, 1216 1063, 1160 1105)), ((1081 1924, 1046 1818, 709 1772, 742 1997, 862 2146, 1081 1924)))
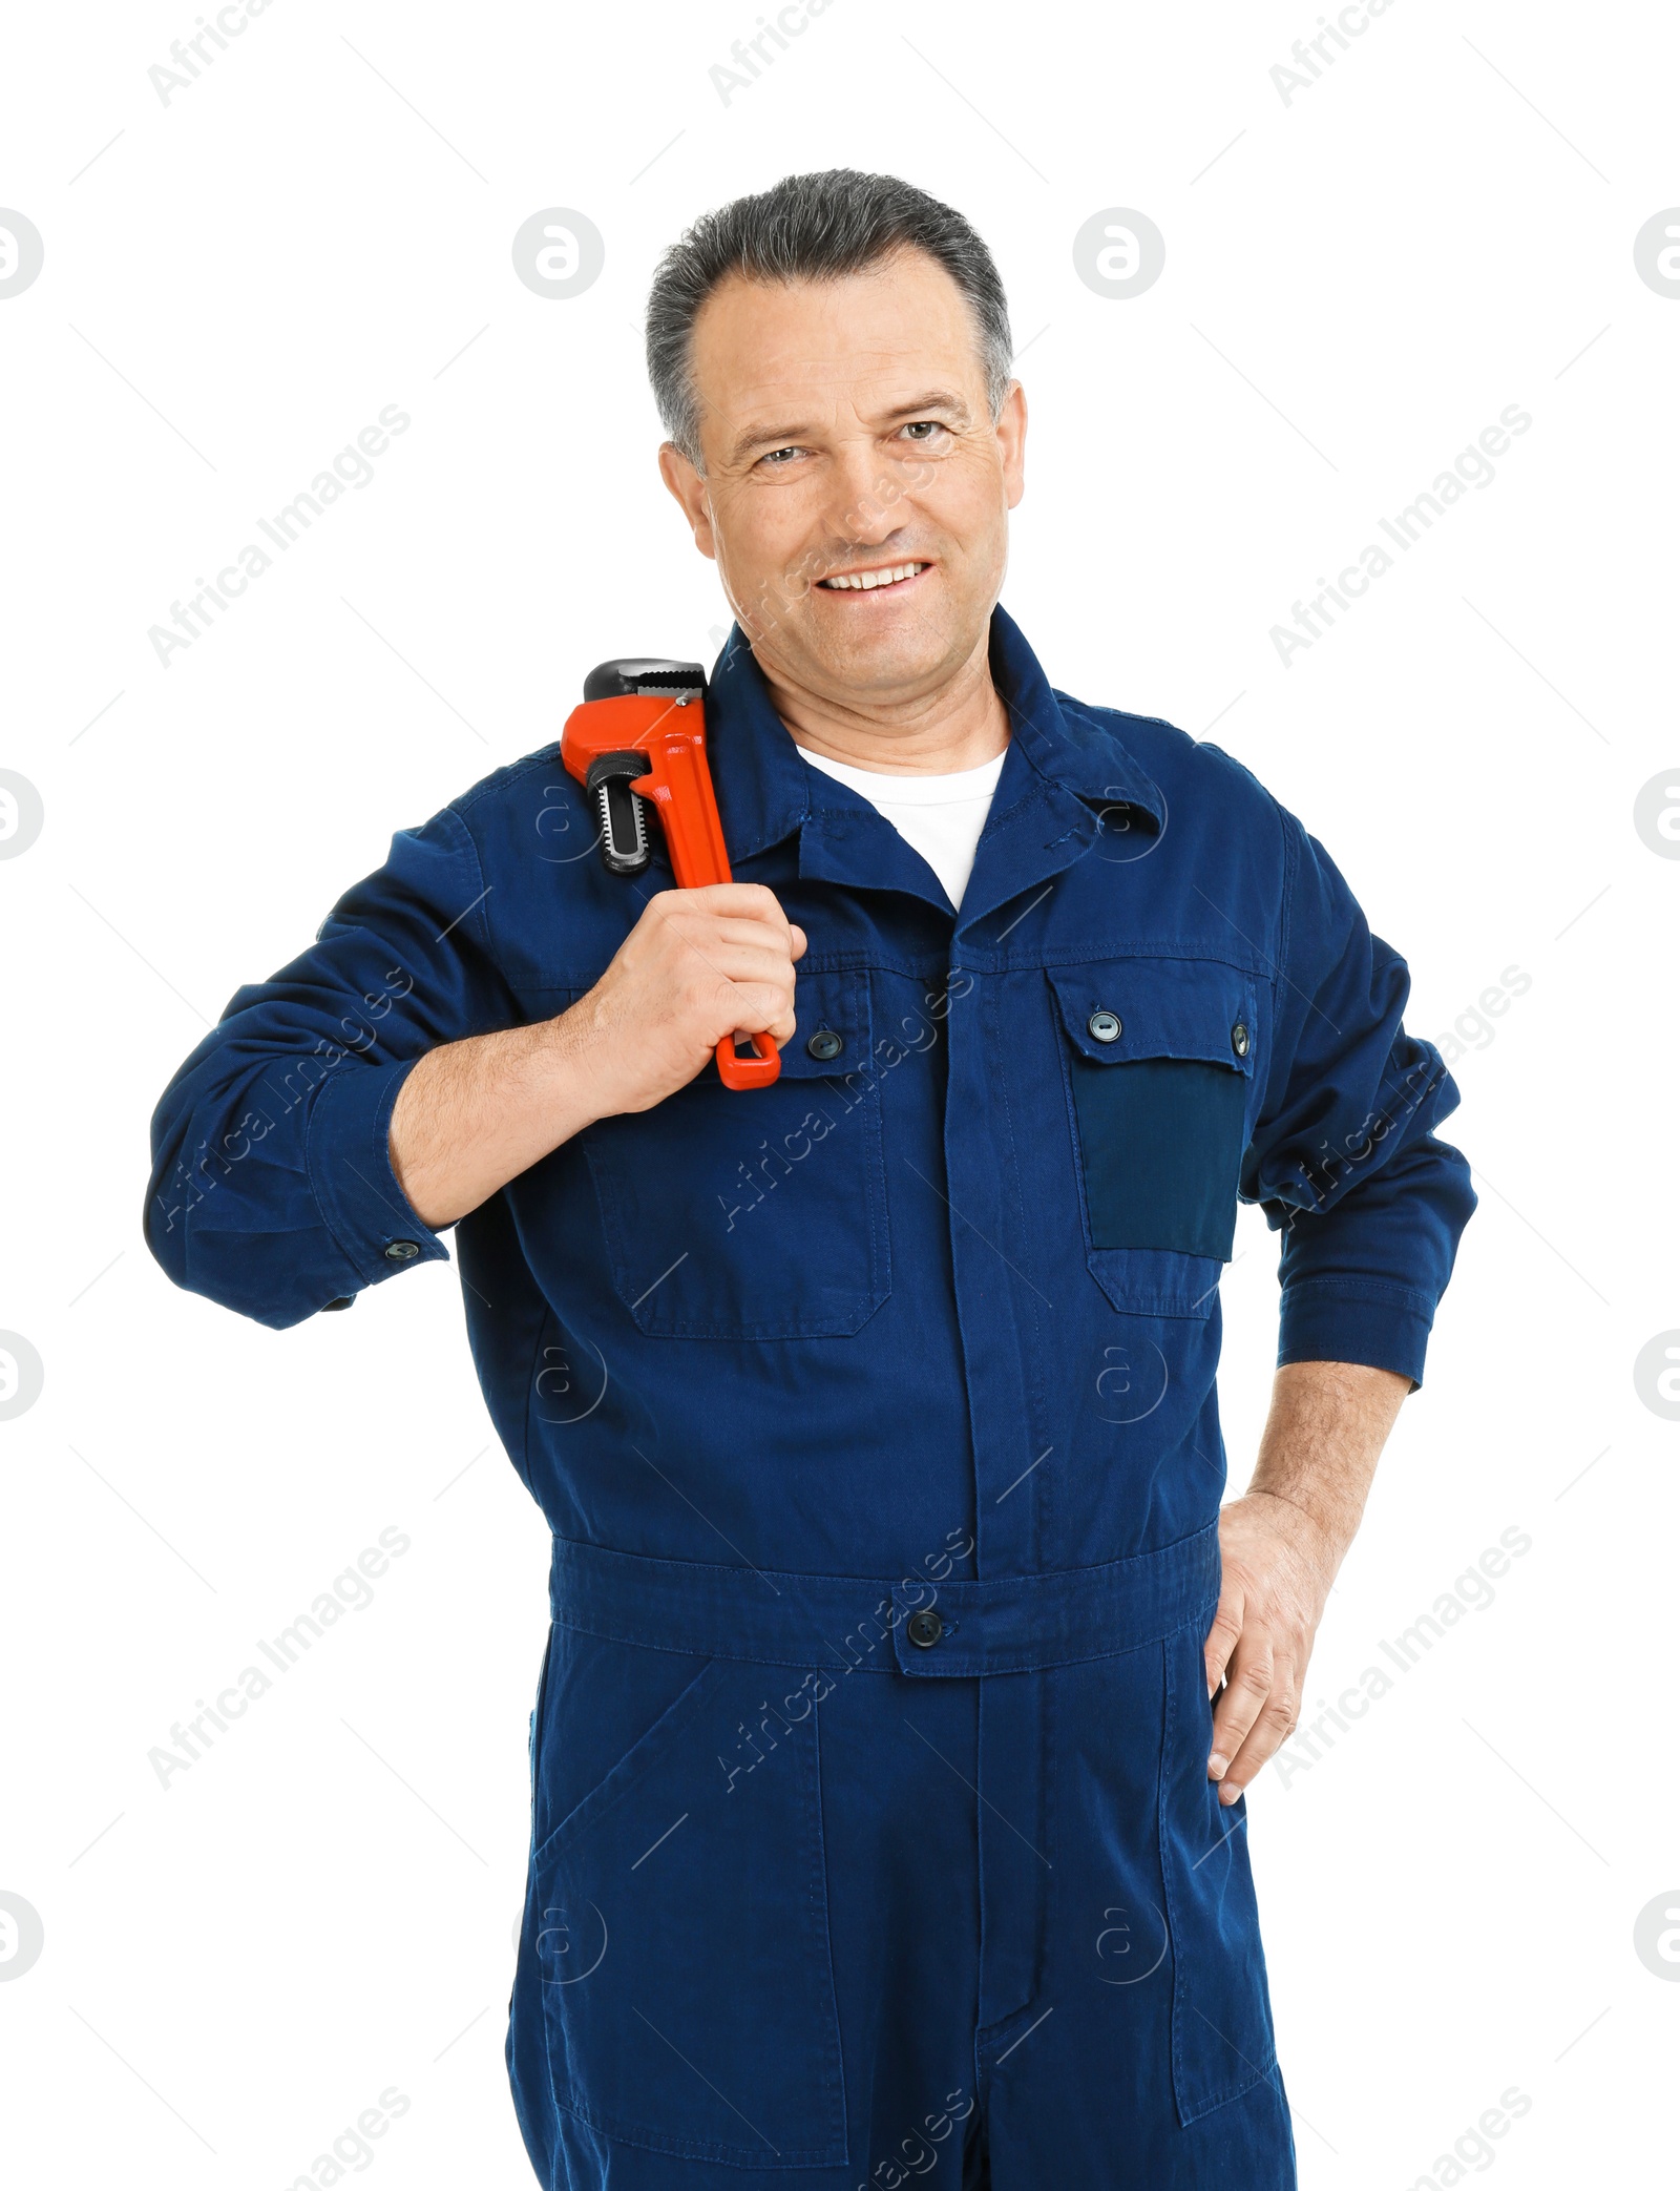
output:
POLYGON ((396 1181, 390 1115, 427 1049, 517 1019, 484 898, 447 806, 232 997, 151 1120, 145 1236, 177 1286, 285 1330, 449 1258, 396 1181))

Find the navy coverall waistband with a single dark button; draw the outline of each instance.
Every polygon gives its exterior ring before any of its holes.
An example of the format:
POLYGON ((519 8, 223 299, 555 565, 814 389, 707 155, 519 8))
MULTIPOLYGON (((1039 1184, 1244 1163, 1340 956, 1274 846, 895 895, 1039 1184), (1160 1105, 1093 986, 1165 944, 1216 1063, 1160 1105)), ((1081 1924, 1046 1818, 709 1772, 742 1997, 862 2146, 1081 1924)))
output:
POLYGON ((937 1584, 651 1560, 556 1536, 548 1597, 559 1628, 648 1650, 953 1678, 1119 1656, 1211 1617, 1218 1591, 1209 1523, 1102 1567, 937 1584))

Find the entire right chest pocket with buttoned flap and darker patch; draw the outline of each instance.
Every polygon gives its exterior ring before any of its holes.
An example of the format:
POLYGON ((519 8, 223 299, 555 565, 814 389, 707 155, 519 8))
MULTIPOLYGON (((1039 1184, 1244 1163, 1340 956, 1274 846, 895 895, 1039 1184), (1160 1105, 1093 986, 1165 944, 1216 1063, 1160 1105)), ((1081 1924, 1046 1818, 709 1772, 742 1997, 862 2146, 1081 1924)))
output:
POLYGON ((1207 1317, 1231 1260, 1259 1047, 1218 960, 1049 968, 1091 1275, 1115 1308, 1207 1317))

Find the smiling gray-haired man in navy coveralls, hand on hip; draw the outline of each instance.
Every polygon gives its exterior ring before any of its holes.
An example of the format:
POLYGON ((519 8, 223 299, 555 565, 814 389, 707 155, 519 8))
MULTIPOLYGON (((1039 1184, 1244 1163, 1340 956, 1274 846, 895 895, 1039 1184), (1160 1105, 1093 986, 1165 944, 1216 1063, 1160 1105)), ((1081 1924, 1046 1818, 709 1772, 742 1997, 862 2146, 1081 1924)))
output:
POLYGON ((1292 2184, 1242 1788, 1422 1378, 1457 1091, 1301 824, 997 607, 1025 401, 964 219, 725 206, 648 362, 736 881, 609 872, 552 743, 499 769, 186 1060, 151 1247, 287 1328, 458 1227, 554 1532, 545 2184, 1292 2184), (1281 1343, 1220 1510, 1240 1198, 1281 1343))

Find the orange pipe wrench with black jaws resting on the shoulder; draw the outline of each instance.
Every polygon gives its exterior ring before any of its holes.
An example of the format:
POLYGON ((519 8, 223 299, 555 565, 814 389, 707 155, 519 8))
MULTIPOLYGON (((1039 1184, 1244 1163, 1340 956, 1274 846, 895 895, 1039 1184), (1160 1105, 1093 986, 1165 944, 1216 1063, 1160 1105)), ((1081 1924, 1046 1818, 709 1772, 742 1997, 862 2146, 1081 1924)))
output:
MULTIPOLYGON (((600 857, 611 874, 640 874, 648 863, 646 808, 666 833, 679 890, 729 883, 712 771, 705 765, 705 670, 699 662, 602 662, 583 681, 583 706, 561 732, 561 760, 596 804, 600 857)), ((767 1089, 782 1071, 769 1034, 753 1034, 753 1054, 718 1043, 718 1080, 727 1089, 767 1089)))

